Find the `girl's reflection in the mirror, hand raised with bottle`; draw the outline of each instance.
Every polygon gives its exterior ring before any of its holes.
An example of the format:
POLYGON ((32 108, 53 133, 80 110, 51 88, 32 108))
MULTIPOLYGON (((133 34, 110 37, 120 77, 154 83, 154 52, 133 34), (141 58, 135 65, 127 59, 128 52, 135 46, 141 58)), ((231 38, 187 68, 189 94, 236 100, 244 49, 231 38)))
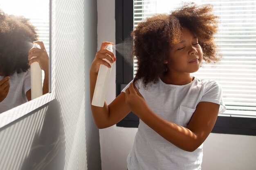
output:
POLYGON ((49 89, 49 57, 28 19, 0 11, 0 113, 31 100, 29 65, 37 61, 45 71, 43 94, 49 89), (41 49, 32 48, 36 41, 41 49), (33 54, 32 54, 33 53, 33 54), (32 56, 37 56, 31 59, 32 56), (30 60, 30 61, 28 61, 30 60))

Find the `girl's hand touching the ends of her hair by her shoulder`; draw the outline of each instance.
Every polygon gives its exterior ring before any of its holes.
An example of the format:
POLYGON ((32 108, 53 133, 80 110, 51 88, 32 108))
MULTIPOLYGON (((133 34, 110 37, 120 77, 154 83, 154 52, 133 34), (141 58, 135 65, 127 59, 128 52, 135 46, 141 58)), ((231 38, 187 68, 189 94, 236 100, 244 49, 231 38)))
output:
POLYGON ((135 113, 138 117, 139 115, 149 109, 148 104, 144 97, 139 93, 136 86, 131 83, 129 88, 126 89, 125 93, 126 105, 130 110, 135 113))

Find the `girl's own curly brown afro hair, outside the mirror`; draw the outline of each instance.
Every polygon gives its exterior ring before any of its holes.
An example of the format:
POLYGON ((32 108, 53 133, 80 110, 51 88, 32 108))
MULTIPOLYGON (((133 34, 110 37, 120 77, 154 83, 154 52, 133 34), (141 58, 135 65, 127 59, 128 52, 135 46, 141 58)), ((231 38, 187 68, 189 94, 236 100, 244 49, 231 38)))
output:
POLYGON ((182 27, 197 35, 205 62, 219 61, 214 42, 218 17, 212 11, 210 4, 184 3, 171 14, 155 15, 140 22, 131 33, 134 40, 132 53, 138 60, 133 83, 141 79, 146 87, 158 81, 158 77, 166 71, 164 61, 167 60, 170 48, 180 42, 182 27))

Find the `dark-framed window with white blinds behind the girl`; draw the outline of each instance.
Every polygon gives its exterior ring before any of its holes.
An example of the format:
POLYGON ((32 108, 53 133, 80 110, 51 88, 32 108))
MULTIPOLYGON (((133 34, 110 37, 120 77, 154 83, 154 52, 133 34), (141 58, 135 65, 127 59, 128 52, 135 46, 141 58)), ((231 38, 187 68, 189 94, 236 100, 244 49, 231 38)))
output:
MULTIPOLYGON (((118 0, 117 0, 118 1, 118 0)), ((116 16, 118 10, 116 1, 116 16)), ((168 0, 130 0, 130 12, 127 6, 123 5, 122 16, 123 25, 126 22, 132 23, 132 27, 123 34, 123 40, 136 28, 137 23, 151 17, 156 13, 169 13, 177 7, 180 2, 168 0), (171 8, 172 7, 172 8, 171 8), (130 18, 132 13, 132 18, 130 18), (126 19, 125 19, 126 17, 126 19)), ((220 82, 223 88, 223 98, 227 106, 227 111, 220 115, 212 132, 256 135, 256 0, 238 1, 238 0, 196 0, 197 4, 213 4, 213 10, 220 18, 219 32, 216 35, 216 42, 222 53, 222 60, 218 64, 204 64, 203 68, 193 73, 198 78, 215 79, 220 82), (209 77, 209 75, 211 77, 209 77)), ((120 6, 119 6, 120 7, 120 6)), ((116 30, 121 28, 116 20, 116 30)), ((126 27, 127 29, 127 27, 126 27)), ((120 38, 116 35, 116 39, 120 38)), ((118 42, 117 42, 118 43, 118 42)), ((117 63, 117 69, 119 70, 117 63)), ((127 70, 122 63, 123 75, 117 75, 117 95, 120 93, 121 86, 130 82, 120 81, 120 77, 127 77, 127 70), (120 83, 121 82, 121 83, 120 83), (122 84, 121 86, 119 86, 122 84)), ((136 72, 136 60, 132 68, 132 74, 136 72)), ((138 118, 130 113, 117 126, 136 127, 138 118), (130 123, 132 122, 132 123, 130 123), (132 126, 131 126, 132 125, 132 126)))

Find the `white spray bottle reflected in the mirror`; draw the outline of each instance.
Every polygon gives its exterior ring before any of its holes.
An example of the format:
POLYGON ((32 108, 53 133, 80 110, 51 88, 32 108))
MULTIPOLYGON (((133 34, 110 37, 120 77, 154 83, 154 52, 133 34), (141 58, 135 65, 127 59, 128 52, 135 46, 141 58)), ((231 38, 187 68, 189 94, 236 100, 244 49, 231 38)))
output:
MULTIPOLYGON (((33 43, 33 47, 40 49, 39 44, 33 43)), ((35 58, 35 57, 31 57, 35 58)), ((38 62, 33 62, 30 65, 31 70, 31 99, 35 99, 43 95, 42 86, 42 70, 38 62)))

